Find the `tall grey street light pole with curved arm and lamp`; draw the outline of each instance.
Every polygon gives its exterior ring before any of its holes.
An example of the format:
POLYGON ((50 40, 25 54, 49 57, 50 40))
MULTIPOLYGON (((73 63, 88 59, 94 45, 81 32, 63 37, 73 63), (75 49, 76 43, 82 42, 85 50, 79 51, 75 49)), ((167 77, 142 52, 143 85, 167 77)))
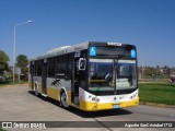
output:
POLYGON ((16 32, 16 27, 23 24, 28 24, 32 23, 32 21, 27 21, 27 22, 23 22, 20 24, 14 25, 14 36, 13 36, 13 83, 15 81, 15 32, 16 32))

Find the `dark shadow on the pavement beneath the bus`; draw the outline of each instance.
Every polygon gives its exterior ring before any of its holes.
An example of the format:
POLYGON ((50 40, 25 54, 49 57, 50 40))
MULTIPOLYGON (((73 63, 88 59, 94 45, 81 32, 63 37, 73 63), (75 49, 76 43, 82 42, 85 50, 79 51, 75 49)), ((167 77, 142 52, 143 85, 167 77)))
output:
MULTIPOLYGON (((30 94, 34 95, 34 92, 32 91, 28 91, 30 94)), ((36 96, 35 96, 36 97, 36 96)), ((58 100, 55 100, 52 98, 49 98, 49 97, 43 97, 42 95, 38 95, 38 98, 49 103, 49 104, 52 104, 55 106, 57 106, 58 108, 61 108, 59 106, 59 102, 58 100)), ((122 115, 131 115, 132 112, 129 111, 129 110, 126 110, 126 109, 110 109, 110 110, 100 110, 100 111, 83 111, 83 110, 80 110, 75 107, 69 107, 69 108, 66 108, 65 110, 69 111, 69 112, 72 112, 79 117, 82 117, 82 118, 98 118, 98 117, 107 117, 107 116, 122 116, 122 115)))

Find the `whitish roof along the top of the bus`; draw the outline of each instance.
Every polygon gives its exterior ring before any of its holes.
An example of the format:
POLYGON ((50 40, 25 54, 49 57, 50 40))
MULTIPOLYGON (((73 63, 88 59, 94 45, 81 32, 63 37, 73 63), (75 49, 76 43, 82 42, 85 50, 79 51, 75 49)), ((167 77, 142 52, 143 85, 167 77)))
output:
POLYGON ((85 41, 73 46, 63 46, 63 47, 57 47, 54 49, 50 49, 46 51, 45 53, 31 59, 30 61, 40 60, 49 57, 60 56, 69 52, 80 51, 83 49, 88 49, 89 46, 133 46, 129 44, 121 44, 121 43, 107 43, 107 41, 85 41))

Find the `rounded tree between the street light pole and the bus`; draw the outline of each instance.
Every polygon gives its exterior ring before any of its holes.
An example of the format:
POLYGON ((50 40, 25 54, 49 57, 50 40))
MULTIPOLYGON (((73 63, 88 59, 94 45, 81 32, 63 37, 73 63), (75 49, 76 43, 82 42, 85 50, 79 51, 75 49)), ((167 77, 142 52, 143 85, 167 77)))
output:
POLYGON ((16 58, 16 67, 21 68, 21 72, 26 75, 28 72, 28 59, 25 55, 19 55, 16 58))

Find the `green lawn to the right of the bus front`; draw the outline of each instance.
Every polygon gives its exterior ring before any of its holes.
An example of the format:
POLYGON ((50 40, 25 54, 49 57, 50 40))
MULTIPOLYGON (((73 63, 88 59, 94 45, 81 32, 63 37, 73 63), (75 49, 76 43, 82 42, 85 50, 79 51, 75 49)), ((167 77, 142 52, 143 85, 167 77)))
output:
POLYGON ((141 103, 175 105, 175 84, 139 83, 141 103))

